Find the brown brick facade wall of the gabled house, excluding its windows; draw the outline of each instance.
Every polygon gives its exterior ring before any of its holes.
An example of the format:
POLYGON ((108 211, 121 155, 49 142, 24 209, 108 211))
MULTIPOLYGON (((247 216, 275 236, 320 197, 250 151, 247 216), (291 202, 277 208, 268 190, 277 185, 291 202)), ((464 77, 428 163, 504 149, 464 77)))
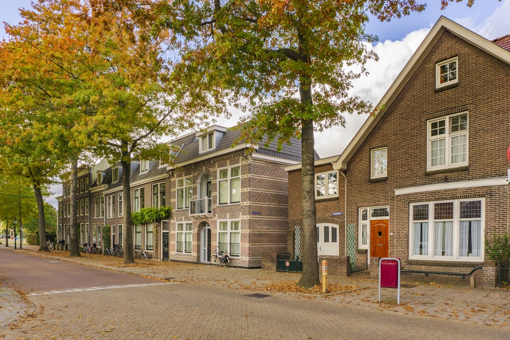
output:
MULTIPOLYGON (((466 41, 445 32, 424 57, 400 93, 368 137, 349 160, 347 167, 347 223, 358 225, 359 207, 390 207, 389 256, 409 257, 409 206, 413 202, 464 198, 484 200, 486 236, 508 232, 508 191, 505 186, 471 187, 428 191, 395 196, 395 189, 485 178, 505 177, 504 151, 510 145, 510 66, 493 58, 466 41), (458 85, 435 90, 435 65, 458 57, 458 85), (480 78, 491 79, 480 83, 480 78), (482 89, 481 89, 482 87, 482 89), (468 112, 469 166, 455 171, 427 172, 427 119, 456 112, 468 112), (388 148, 388 177, 370 181, 370 149, 388 148)), ((482 240, 483 241, 483 240, 482 240)), ((487 256, 486 256, 487 257, 487 256)), ((403 262, 405 266, 407 264, 403 262)), ((415 265, 430 271, 451 269, 436 262, 415 265)), ((466 269, 476 267, 470 264, 466 269)), ((411 268, 411 267, 409 267, 411 268)), ((371 268, 371 273, 374 268, 371 268)), ((476 273, 477 285, 494 286, 493 270, 476 273)))

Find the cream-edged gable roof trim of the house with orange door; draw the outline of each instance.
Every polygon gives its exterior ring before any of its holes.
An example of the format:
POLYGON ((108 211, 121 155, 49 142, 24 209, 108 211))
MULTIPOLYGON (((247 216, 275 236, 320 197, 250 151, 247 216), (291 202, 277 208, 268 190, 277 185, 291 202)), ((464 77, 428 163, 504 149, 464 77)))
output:
POLYGON ((426 57, 428 52, 432 49, 433 45, 438 41, 438 39, 445 31, 448 31, 451 34, 480 48, 493 57, 498 58, 507 64, 510 64, 510 51, 505 49, 507 48, 505 46, 507 46, 509 43, 508 39, 510 39, 508 36, 495 39, 494 41, 489 41, 480 35, 468 30, 467 28, 462 27, 460 24, 453 22, 444 16, 441 16, 436 24, 432 27, 430 32, 427 34, 423 42, 420 44, 416 52, 413 54, 409 62, 407 62, 402 71, 400 71, 386 94, 375 106, 376 108, 383 109, 380 109, 380 111, 376 112, 375 116, 371 116, 365 121, 358 133, 356 133, 354 138, 345 148, 344 152, 340 155, 338 161, 333 165, 334 169, 347 168, 347 162, 350 160, 354 152, 358 149, 365 138, 367 138, 368 134, 377 124, 382 115, 386 113, 393 100, 395 100, 407 81, 413 75, 414 71, 420 66, 423 59, 426 57))

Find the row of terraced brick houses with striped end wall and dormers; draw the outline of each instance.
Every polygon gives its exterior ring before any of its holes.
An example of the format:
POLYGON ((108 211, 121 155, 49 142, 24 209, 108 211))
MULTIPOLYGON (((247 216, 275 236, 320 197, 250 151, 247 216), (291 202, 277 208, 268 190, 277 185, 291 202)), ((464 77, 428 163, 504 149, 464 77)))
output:
MULTIPOLYGON (((171 165, 132 161, 132 212, 172 207, 170 218, 161 224, 133 225, 135 250, 158 260, 198 263, 223 251, 230 254, 232 265, 245 268, 261 267, 264 253, 286 251, 285 167, 301 161, 301 143, 293 139, 281 150, 274 142, 264 146, 265 141, 234 145, 239 136, 239 129, 213 125, 168 142, 171 165)), ((106 160, 81 170, 79 183, 83 179, 85 185, 87 178, 91 185, 80 195, 84 204, 85 197, 91 203, 90 214, 83 215, 83 223, 79 220, 80 242, 100 242, 101 228, 110 225, 112 244, 122 243, 122 171, 120 164, 110 166, 106 160)), ((68 180, 63 185, 66 193, 68 180)), ((67 206, 67 196, 59 197, 61 206, 67 206)), ((61 233, 69 229, 65 212, 59 210, 61 233)))

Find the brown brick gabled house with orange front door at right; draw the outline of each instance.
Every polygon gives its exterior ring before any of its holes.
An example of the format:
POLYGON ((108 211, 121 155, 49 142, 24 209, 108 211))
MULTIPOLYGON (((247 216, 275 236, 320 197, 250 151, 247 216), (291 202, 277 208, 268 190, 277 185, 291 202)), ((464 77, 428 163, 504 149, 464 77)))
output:
MULTIPOLYGON (((509 41, 489 41, 441 17, 377 104, 381 110, 332 162, 346 175, 332 210, 345 211, 356 269, 375 275, 386 256, 400 257, 408 271, 483 266, 475 281, 494 286, 484 240, 509 232, 509 41)), ((330 218, 323 204, 318 223, 330 218)), ((340 244, 340 254, 346 248, 340 244)))

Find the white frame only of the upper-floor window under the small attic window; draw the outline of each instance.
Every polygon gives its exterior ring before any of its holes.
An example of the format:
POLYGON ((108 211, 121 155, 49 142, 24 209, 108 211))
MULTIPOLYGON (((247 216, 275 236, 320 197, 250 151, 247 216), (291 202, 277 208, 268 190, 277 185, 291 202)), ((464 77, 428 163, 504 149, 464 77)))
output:
MULTIPOLYGON (((458 146, 457 146, 458 147, 458 146)), ((457 154, 459 152, 457 151, 457 154)), ((464 152, 463 152, 464 153, 464 152)), ((439 118, 430 119, 427 121, 427 171, 442 170, 450 168, 458 168, 467 166, 469 164, 469 113, 467 111, 456 113, 453 115, 442 116, 439 118), (457 117, 466 116, 466 129, 452 132, 451 129, 456 124, 452 123, 452 120, 457 117), (439 129, 438 127, 432 126, 435 123, 440 124, 444 121, 444 133, 432 136, 433 131, 439 129), (465 154, 466 160, 463 162, 452 162, 453 151, 455 147, 453 140, 460 140, 465 137, 465 154), (432 165, 432 143, 439 143, 444 141, 444 164, 432 165)))

